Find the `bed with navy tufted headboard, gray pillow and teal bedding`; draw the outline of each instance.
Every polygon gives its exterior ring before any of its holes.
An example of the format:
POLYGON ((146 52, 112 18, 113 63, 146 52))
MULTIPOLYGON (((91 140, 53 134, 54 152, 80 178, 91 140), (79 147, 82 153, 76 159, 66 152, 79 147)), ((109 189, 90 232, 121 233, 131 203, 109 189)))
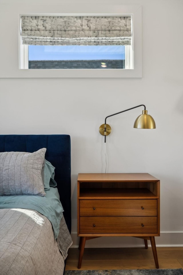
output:
POLYGON ((0 152, 1 275, 63 274, 72 244, 70 136, 0 135, 0 152))

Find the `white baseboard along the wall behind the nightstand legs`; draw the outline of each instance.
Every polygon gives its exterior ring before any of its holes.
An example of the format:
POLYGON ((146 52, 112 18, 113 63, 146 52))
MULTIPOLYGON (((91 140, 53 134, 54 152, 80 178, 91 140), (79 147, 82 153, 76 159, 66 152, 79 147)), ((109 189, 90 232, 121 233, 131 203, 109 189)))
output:
MULTIPOLYGON (((73 240, 72 248, 79 245, 77 233, 71 233, 73 240)), ((183 232, 161 232, 160 237, 155 237, 157 247, 183 246, 183 232)), ((143 247, 144 240, 134 237, 100 237, 87 240, 85 247, 143 247)), ((148 246, 151 246, 148 241, 148 246)))

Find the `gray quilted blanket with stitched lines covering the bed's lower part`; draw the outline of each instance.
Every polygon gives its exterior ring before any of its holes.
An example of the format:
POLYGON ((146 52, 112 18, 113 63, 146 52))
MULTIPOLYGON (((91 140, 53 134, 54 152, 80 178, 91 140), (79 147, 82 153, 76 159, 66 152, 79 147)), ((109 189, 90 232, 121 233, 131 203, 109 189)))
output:
POLYGON ((57 240, 51 222, 31 209, 0 209, 0 274, 61 275, 72 240, 64 218, 57 240))

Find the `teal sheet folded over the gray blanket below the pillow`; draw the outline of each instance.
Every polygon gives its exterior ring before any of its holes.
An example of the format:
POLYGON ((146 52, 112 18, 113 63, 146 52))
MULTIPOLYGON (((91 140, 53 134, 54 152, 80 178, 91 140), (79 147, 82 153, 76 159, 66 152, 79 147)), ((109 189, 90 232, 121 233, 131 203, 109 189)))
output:
POLYGON ((30 195, 1 196, 0 209, 28 208, 38 211, 51 222, 56 239, 59 233, 60 220, 63 215, 63 207, 59 200, 57 188, 50 187, 50 190, 45 190, 45 193, 45 197, 30 195))

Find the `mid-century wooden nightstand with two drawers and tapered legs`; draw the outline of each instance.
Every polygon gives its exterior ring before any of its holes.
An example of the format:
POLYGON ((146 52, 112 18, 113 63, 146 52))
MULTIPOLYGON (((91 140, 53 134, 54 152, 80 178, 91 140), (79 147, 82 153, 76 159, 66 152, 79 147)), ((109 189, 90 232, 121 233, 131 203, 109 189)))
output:
POLYGON ((78 268, 85 241, 102 236, 133 236, 151 241, 159 268, 154 236, 160 236, 160 180, 148 173, 78 174, 78 268))

